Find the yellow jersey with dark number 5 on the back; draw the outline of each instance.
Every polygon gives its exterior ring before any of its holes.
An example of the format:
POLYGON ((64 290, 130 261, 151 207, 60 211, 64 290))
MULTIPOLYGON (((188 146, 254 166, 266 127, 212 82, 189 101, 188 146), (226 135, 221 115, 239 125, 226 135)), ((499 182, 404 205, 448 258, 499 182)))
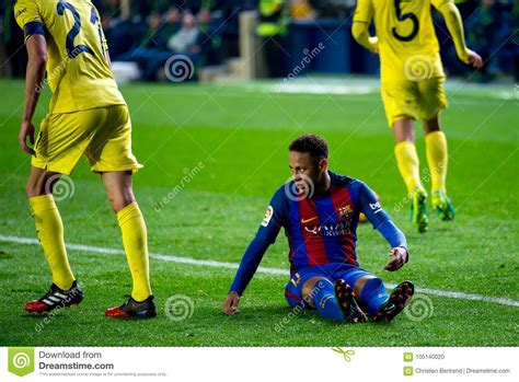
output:
POLYGON ((445 77, 430 5, 448 1, 357 1, 354 23, 374 23, 382 83, 445 77))

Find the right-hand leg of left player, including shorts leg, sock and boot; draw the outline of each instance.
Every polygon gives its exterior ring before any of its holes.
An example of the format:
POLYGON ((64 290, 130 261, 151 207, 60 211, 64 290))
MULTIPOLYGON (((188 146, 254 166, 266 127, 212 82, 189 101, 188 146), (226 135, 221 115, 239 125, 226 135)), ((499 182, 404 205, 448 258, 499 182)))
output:
POLYGON ((123 235, 134 282, 131 297, 120 306, 106 310, 112 317, 154 317, 150 289, 148 233, 132 192, 132 172, 142 167, 131 153, 131 121, 126 105, 103 107, 103 120, 85 150, 91 170, 100 173, 123 235))

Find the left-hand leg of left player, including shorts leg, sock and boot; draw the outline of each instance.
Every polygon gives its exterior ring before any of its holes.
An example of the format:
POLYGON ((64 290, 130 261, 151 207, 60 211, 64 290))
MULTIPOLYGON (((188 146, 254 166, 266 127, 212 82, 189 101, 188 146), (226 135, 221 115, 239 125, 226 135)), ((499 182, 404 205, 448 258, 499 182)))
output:
POLYGON ((53 198, 53 187, 59 174, 72 172, 90 142, 92 127, 97 125, 97 113, 91 111, 53 114, 42 120, 26 194, 54 282, 43 298, 25 305, 30 312, 69 306, 83 299, 70 270, 64 225, 53 198))

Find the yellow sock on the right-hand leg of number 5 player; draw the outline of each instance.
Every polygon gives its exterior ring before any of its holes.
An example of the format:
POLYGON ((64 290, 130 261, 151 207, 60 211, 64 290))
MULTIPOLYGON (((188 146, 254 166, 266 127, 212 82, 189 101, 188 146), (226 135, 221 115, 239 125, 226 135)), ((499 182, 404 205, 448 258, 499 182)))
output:
POLYGON ((425 136, 427 163, 429 164, 431 189, 446 190, 447 177, 447 139, 443 131, 434 131, 425 136))

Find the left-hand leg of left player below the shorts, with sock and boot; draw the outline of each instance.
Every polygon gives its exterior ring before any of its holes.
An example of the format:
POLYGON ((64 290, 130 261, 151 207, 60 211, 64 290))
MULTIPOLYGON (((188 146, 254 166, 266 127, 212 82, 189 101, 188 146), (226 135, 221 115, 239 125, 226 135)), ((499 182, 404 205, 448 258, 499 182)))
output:
POLYGON ((45 259, 53 273, 53 285, 39 300, 25 304, 27 312, 46 312, 82 301, 83 294, 70 269, 64 240, 64 224, 53 198, 58 173, 32 166, 25 192, 45 259))

